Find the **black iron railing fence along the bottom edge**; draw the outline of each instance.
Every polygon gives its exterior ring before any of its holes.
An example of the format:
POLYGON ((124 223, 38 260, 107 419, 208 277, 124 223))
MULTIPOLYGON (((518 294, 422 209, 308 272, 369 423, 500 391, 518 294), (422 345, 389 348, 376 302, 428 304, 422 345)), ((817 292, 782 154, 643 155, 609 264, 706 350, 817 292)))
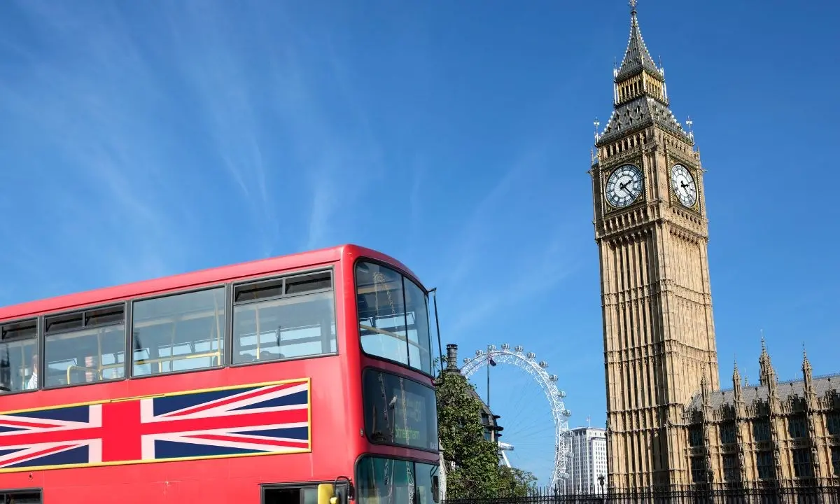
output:
POLYGON ((534 489, 526 496, 447 499, 444 504, 840 504, 840 485, 691 486, 644 491, 564 493, 534 489))

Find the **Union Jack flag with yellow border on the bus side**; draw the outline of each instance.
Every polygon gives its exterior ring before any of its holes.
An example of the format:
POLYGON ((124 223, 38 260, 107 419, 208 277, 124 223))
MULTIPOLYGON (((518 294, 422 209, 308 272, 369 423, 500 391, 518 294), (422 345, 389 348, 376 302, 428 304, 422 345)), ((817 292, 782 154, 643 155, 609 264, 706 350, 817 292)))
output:
POLYGON ((0 471, 310 450, 309 381, 0 414, 0 471))

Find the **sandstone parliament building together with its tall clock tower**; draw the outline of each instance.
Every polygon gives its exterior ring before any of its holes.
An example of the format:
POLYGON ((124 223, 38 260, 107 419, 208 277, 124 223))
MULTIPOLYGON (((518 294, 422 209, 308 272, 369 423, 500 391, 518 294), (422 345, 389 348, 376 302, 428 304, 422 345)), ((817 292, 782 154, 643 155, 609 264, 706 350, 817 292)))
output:
MULTIPOLYGON (((639 29, 613 71, 591 170, 601 270, 607 481, 674 486, 840 484, 840 375, 719 384, 703 168, 639 29), (811 483, 812 484, 812 483, 811 483)), ((756 347, 758 349, 758 342, 756 347)))

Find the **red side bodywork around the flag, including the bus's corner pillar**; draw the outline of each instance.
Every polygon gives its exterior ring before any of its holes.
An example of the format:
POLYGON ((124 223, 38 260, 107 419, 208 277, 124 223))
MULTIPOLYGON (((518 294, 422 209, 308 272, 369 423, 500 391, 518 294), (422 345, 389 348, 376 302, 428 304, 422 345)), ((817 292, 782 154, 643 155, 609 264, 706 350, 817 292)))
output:
MULTIPOLYGON (((349 259, 344 256, 344 259, 349 259)), ((361 353, 353 265, 335 265, 339 356, 160 375, 129 381, 39 391, 14 396, 3 408, 60 406, 228 387, 266 381, 311 380, 311 453, 181 460, 74 469, 0 473, 0 489, 43 488, 45 502, 91 504, 118 500, 260 502, 261 484, 354 478, 354 463, 367 446, 363 433, 361 353)), ((10 397, 11 398, 11 397, 10 397)))

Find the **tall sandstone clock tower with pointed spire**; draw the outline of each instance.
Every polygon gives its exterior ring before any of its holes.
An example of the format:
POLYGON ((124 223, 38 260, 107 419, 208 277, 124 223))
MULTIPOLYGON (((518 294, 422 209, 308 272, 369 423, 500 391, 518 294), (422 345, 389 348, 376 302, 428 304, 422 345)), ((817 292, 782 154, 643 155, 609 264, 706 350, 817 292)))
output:
POLYGON ((669 108, 631 0, 613 112, 592 156, 601 262, 608 481, 690 483, 684 407, 719 388, 703 169, 669 108))

